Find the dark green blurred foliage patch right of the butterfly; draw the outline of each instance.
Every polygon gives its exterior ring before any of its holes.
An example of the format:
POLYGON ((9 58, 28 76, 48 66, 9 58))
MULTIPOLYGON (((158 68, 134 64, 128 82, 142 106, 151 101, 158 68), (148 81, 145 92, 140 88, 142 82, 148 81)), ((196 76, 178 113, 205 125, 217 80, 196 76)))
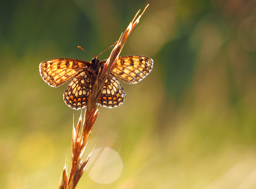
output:
POLYGON ((175 101, 181 100, 183 90, 191 83, 194 74, 196 54, 190 47, 189 38, 182 37, 167 43, 160 52, 165 60, 161 66, 166 81, 167 94, 175 101), (186 52, 186 55, 184 55, 186 52))

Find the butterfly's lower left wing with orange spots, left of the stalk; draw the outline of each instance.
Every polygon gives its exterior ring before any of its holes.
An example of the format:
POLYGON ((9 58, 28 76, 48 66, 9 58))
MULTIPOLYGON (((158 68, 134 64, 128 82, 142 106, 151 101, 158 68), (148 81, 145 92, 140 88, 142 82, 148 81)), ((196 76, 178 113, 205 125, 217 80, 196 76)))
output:
POLYGON ((65 103, 73 109, 81 109, 87 101, 94 84, 95 77, 88 69, 81 70, 68 84, 63 94, 65 103))

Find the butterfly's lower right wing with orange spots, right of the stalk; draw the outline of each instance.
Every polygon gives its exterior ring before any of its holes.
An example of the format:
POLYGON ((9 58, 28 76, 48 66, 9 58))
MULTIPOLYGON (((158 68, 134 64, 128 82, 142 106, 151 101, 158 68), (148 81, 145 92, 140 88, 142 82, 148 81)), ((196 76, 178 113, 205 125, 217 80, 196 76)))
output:
POLYGON ((114 108, 123 103, 124 98, 125 91, 121 83, 110 73, 105 81, 98 103, 104 107, 114 108))

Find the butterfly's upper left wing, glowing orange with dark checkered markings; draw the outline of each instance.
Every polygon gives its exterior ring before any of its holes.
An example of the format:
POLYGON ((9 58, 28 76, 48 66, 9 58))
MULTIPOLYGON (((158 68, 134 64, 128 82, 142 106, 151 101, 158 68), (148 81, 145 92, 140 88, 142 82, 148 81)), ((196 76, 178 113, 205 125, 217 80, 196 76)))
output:
POLYGON ((90 67, 90 62, 84 60, 58 58, 40 63, 39 71, 48 85, 58 87, 88 67, 90 67))

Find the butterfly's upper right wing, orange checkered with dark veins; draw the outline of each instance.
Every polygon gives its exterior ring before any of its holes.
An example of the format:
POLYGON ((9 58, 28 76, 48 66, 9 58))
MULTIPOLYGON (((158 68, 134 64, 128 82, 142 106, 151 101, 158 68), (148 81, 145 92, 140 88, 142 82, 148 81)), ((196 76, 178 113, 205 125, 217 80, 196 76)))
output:
POLYGON ((153 60, 144 56, 121 56, 112 70, 117 78, 135 84, 145 78, 153 67, 153 60))

